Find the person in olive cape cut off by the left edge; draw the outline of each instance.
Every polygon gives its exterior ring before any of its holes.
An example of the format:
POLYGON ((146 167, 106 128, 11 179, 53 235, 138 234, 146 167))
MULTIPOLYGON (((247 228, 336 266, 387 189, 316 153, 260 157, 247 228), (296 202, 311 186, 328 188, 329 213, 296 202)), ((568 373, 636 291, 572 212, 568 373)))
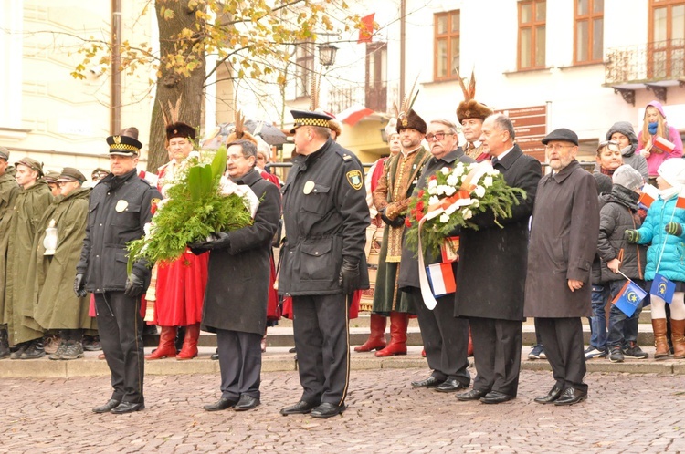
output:
MULTIPOLYGON (((0 279, 5 282, 7 269, 7 242, 9 241, 9 220, 19 185, 15 180, 15 168, 9 165, 9 150, 0 147, 0 279)), ((5 320, 5 292, 0 289, 0 359, 9 357, 5 320)))

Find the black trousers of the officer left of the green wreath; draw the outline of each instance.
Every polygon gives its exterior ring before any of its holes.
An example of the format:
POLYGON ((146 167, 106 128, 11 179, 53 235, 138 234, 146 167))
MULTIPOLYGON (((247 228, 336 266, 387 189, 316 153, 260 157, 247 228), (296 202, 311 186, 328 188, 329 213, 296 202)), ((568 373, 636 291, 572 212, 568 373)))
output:
POLYGON ((111 398, 142 403, 144 351, 140 298, 123 292, 95 294, 102 353, 111 372, 111 398))

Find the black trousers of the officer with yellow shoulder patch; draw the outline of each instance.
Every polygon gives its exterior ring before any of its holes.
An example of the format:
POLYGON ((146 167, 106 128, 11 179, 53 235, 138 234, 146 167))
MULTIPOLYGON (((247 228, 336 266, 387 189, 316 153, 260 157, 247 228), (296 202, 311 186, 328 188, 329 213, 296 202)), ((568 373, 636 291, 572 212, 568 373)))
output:
POLYGON ((345 401, 350 381, 347 304, 344 294, 292 297, 301 400, 338 406, 345 401))

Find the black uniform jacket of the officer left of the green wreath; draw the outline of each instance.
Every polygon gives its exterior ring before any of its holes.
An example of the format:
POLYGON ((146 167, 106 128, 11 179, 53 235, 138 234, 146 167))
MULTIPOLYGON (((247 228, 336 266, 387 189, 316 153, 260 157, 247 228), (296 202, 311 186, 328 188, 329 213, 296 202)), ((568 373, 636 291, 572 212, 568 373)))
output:
MULTIPOLYGON (((88 225, 77 273, 86 275, 86 290, 100 294, 123 291, 126 285, 126 243, 144 235, 143 228, 153 218, 151 201, 162 195, 138 177, 137 170, 115 177, 108 175, 90 192, 88 225)), ((145 288, 150 284, 150 268, 145 261, 133 264, 145 288)))

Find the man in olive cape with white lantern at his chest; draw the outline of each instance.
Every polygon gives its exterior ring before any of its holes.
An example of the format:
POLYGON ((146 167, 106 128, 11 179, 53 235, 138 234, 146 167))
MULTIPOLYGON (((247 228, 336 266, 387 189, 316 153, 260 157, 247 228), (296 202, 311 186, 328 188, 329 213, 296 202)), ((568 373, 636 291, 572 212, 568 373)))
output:
POLYGON ((86 236, 90 189, 86 177, 65 167, 57 178, 61 197, 43 215, 34 242, 28 279, 34 283, 37 302, 34 319, 45 330, 59 331, 61 343, 50 359, 83 357, 84 330, 94 329, 88 315, 90 298, 74 295, 74 269, 86 236))

